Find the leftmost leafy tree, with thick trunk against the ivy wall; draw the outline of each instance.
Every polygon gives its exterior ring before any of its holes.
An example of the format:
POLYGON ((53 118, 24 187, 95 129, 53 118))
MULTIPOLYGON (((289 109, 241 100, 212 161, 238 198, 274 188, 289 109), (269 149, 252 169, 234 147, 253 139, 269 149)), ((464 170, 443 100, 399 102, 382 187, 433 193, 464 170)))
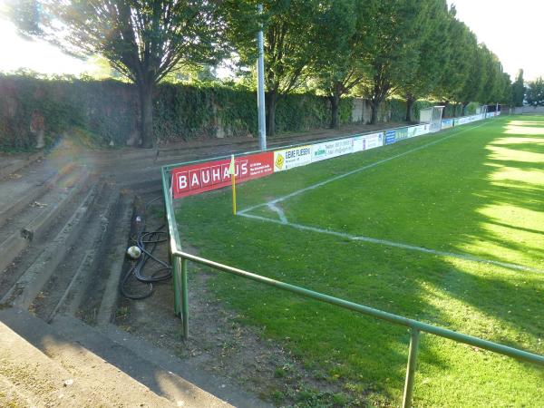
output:
POLYGON ((216 63, 227 24, 212 0, 13 0, 19 30, 77 56, 102 55, 138 89, 142 147, 153 146, 153 92, 184 63, 216 63))

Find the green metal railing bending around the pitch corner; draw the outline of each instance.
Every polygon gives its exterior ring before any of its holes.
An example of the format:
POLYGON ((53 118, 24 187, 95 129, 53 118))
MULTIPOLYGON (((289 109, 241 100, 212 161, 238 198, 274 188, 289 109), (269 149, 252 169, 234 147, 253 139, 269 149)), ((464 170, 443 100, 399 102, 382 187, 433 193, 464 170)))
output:
MULTIPOLYGON (((246 153, 248 154, 248 153, 246 153)), ((224 158, 228 158, 224 157, 224 158)), ((238 277, 244 277, 261 284, 276 287, 277 289, 285 290, 287 292, 294 293, 299 296, 309 297, 320 302, 325 302, 330 305, 338 306, 351 310, 365 316, 373 316, 375 318, 385 320, 394 325, 403 325, 408 327, 411 331, 410 348, 408 352, 408 364, 406 368, 406 379, 404 383, 403 391, 403 407, 408 408, 412 406, 413 399, 413 380, 415 376, 416 361, 419 339, 422 332, 429 333, 431 335, 438 335, 440 337, 451 339, 458 343, 466 345, 473 345, 485 350, 489 350, 500 355, 508 355, 510 357, 526 361, 533 364, 538 364, 544 367, 544 356, 529 353, 514 347, 507 345, 500 345, 488 340, 483 340, 471 335, 464 335, 452 330, 442 328, 435 325, 428 325, 426 323, 409 319, 403 316, 393 315, 392 313, 384 312, 383 310, 374 309, 373 307, 363 306, 350 302, 345 299, 341 299, 335 296, 328 296, 322 293, 318 293, 304 287, 296 287, 294 285, 287 284, 275 279, 263 277, 257 274, 250 273, 248 271, 238 269, 237 267, 230 267, 228 265, 220 264, 210 259, 203 257, 197 257, 187 252, 183 252, 181 249, 180 234, 178 232, 173 202, 170 195, 170 170, 174 167, 181 165, 187 165, 196 163, 199 161, 220 160, 224 159, 215 158, 208 160, 197 160, 186 163, 180 163, 175 165, 164 166, 161 170, 162 175, 162 189, 164 194, 164 202, 166 209, 166 219, 168 221, 168 228, 170 232, 170 255, 172 257, 172 283, 174 287, 174 313, 176 316, 180 316, 183 323, 183 335, 187 337, 189 335, 189 287, 188 287, 188 264, 194 262, 196 264, 211 267, 220 272, 226 272, 238 277)))

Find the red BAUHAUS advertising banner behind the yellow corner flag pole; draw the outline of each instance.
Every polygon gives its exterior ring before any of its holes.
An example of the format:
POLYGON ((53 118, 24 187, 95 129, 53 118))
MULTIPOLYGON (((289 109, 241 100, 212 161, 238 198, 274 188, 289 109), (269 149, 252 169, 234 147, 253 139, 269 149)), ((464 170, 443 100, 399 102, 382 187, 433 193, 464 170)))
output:
MULTIPOLYGON (((172 169, 172 197, 192 196, 230 185, 230 159, 208 161, 172 169)), ((236 181, 258 179, 274 172, 274 153, 250 154, 235 158, 236 181)))

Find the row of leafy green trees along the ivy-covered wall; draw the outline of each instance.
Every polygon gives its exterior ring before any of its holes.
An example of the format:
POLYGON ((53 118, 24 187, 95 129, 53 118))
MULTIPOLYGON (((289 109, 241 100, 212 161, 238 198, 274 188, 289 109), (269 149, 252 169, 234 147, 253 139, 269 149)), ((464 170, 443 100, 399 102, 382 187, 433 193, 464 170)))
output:
POLYGON ((24 35, 100 55, 134 83, 145 147, 153 144, 156 84, 195 65, 213 79, 224 59, 253 71, 259 26, 269 135, 277 103, 301 89, 326 95, 332 127, 346 94, 368 99, 372 122, 392 95, 407 102, 407 121, 421 98, 462 106, 523 102, 522 72, 512 86, 499 58, 446 0, 11 0, 11 17, 24 35))

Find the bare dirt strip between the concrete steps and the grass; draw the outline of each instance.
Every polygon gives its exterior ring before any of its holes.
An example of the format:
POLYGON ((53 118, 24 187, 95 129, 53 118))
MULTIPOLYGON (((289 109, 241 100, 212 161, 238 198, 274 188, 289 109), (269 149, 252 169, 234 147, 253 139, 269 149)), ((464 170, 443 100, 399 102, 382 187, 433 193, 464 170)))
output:
MULTIPOLYGON (((146 230, 160 227, 162 202, 152 205, 147 215, 146 230)), ((187 243, 186 248, 189 248, 187 243)), ((197 248, 192 249, 198 252, 197 248)), ((160 246, 155 255, 167 259, 168 247, 160 246)), ((145 273, 151 274, 156 267, 158 265, 151 262, 145 273)), ((182 339, 180 319, 173 316, 170 281, 156 285, 153 295, 147 299, 122 298, 115 324, 151 344, 170 350, 183 361, 219 375, 227 384, 236 384, 246 392, 256 393, 269 403, 324 407, 359 405, 342 390, 341 384, 327 382, 325 373, 310 368, 311 364, 304 364, 282 345, 265 338, 261 329, 241 325, 239 316, 209 290, 209 283, 215 277, 207 270, 191 268, 188 340, 182 339)), ((132 281, 129 288, 141 293, 145 286, 132 281)))

